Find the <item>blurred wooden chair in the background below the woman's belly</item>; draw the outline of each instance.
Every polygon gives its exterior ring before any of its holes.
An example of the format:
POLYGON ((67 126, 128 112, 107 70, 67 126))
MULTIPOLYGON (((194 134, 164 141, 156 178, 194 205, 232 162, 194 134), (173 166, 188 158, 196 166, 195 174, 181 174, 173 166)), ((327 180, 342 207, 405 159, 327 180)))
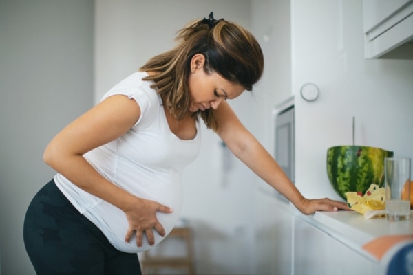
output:
MULTIPOLYGON (((191 229, 187 226, 173 228, 167 238, 162 241, 156 248, 162 245, 168 245, 168 240, 178 239, 184 242, 186 254, 184 256, 167 256, 162 254, 154 254, 152 250, 143 252, 144 258, 140 260, 142 265, 142 274, 157 274, 161 268, 187 270, 187 274, 194 275, 193 269, 193 250, 192 250, 192 236, 191 229), (154 272, 154 273, 151 273, 154 272)), ((169 273, 168 273, 169 274, 169 273)), ((182 273, 179 273, 182 274, 182 273)))

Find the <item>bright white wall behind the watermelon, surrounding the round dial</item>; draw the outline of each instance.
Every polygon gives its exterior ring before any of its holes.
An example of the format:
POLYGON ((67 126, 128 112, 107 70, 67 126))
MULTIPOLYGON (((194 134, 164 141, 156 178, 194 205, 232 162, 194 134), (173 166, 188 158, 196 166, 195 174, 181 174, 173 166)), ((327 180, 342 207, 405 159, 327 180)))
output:
POLYGON ((352 144, 353 116, 357 145, 413 157, 413 61, 364 58, 362 1, 293 0, 291 7, 297 186, 308 197, 339 199, 326 151, 352 144), (299 96, 306 82, 319 86, 313 103, 299 96))

